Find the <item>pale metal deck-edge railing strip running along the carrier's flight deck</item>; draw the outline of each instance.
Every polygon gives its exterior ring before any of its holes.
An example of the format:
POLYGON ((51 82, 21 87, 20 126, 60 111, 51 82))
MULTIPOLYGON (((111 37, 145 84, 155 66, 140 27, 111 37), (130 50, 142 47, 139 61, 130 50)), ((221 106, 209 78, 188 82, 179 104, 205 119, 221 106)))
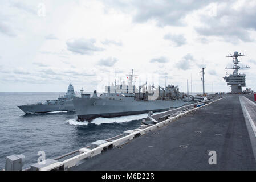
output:
MULTIPOLYGON (((225 97, 222 97, 222 98, 225 98, 225 97)), ((218 100, 221 100, 222 98, 220 98, 218 100)), ((136 137, 144 135, 150 131, 156 130, 159 127, 165 126, 168 123, 173 122, 178 118, 181 118, 189 113, 192 113, 198 109, 201 109, 202 107, 208 106, 209 104, 212 104, 213 102, 216 102, 218 100, 214 100, 212 102, 209 102, 208 104, 204 104, 199 107, 193 107, 192 109, 183 111, 182 113, 178 113, 174 117, 168 117, 168 119, 166 119, 165 121, 156 123, 155 125, 149 125, 149 126, 141 125, 141 127, 137 128, 137 129, 127 130, 127 131, 124 131, 123 134, 117 135, 115 137, 112 137, 112 138, 109 138, 106 140, 100 140, 101 142, 103 142, 103 144, 99 144, 99 146, 96 146, 95 148, 92 147, 92 143, 91 143, 91 146, 86 146, 84 148, 80 148, 79 150, 59 156, 58 158, 55 158, 55 159, 59 160, 66 156, 70 156, 72 154, 79 152, 78 155, 72 156, 71 158, 66 159, 62 162, 56 160, 55 163, 52 163, 46 167, 42 167, 39 170, 40 171, 51 171, 51 170, 56 170, 56 169, 67 170, 71 167, 75 167, 76 165, 80 164, 82 162, 82 160, 84 161, 84 159, 90 159, 93 156, 96 156, 98 154, 101 154, 102 152, 111 150, 112 148, 121 147, 121 146, 123 146, 123 144, 128 143, 129 141, 131 141, 132 139, 134 139, 136 137)))

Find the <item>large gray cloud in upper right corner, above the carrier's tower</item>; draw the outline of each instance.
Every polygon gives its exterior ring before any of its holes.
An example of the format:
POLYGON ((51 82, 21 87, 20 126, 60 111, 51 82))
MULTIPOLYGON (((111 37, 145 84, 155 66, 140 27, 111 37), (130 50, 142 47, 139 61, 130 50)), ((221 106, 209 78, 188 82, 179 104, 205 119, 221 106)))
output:
POLYGON ((200 15, 200 21, 204 25, 195 27, 195 30, 200 35, 221 37, 234 44, 238 40, 252 42, 249 31, 256 30, 256 5, 241 5, 237 10, 230 8, 230 5, 225 2, 217 6, 214 16, 200 15))

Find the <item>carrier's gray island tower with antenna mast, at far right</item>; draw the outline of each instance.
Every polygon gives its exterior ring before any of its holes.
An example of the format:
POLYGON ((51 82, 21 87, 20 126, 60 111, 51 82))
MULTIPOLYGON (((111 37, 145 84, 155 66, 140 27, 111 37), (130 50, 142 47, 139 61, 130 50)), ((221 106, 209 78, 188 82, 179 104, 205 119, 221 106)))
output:
POLYGON ((230 54, 226 57, 233 57, 233 68, 226 68, 226 69, 234 69, 233 74, 230 74, 229 76, 225 76, 224 80, 226 80, 227 85, 231 86, 231 93, 242 93, 242 87, 245 87, 245 74, 238 73, 238 69, 245 69, 250 67, 240 67, 238 64, 240 61, 238 61, 237 57, 239 56, 246 56, 245 54, 238 53, 238 51, 235 51, 234 54, 230 54))

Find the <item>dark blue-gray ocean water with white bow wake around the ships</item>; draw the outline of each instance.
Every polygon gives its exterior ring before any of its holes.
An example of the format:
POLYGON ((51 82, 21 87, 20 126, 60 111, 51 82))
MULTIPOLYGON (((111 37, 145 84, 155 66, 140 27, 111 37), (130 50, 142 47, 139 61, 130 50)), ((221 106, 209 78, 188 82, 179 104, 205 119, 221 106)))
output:
POLYGON ((6 156, 25 155, 30 167, 38 160, 38 151, 46 159, 56 158, 99 139, 107 139, 135 129, 147 114, 116 118, 96 118, 91 123, 77 122, 75 111, 25 115, 17 105, 54 100, 64 93, 0 93, 0 169, 6 156))

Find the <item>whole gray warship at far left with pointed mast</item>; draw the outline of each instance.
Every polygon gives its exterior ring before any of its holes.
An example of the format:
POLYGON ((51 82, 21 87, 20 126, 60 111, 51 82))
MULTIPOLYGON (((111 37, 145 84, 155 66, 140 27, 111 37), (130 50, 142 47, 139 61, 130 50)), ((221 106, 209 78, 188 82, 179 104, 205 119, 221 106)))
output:
POLYGON ((47 100, 44 104, 28 104, 18 106, 24 113, 48 113, 52 111, 71 111, 75 110, 72 100, 76 98, 74 87, 70 81, 67 93, 59 97, 57 100, 47 100))

